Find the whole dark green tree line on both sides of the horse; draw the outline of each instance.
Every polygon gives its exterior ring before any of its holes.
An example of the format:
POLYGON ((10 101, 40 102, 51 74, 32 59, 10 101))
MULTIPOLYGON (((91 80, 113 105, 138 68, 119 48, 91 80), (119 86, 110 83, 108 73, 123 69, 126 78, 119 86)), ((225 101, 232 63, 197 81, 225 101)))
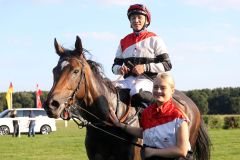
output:
MULTIPOLYGON (((198 106, 200 112, 206 114, 240 114, 240 87, 198 89, 183 91, 198 106)), ((41 95, 42 103, 47 98, 48 91, 41 95)), ((6 93, 0 93, 0 111, 7 109, 6 93)), ((36 107, 35 92, 13 93, 14 108, 36 107)))

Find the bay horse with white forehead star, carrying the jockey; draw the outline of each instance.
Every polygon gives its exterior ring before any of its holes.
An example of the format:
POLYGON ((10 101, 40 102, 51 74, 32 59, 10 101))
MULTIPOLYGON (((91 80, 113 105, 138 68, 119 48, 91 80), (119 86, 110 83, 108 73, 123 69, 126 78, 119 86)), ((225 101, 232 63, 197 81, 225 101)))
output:
MULTIPOLYGON (((60 58, 53 69, 53 86, 44 103, 48 116, 78 117, 86 122, 82 126, 86 126, 85 147, 90 160, 140 160, 140 149, 136 148, 141 145, 137 138, 112 126, 109 118, 111 107, 122 123, 138 127, 137 110, 121 101, 121 93, 104 76, 101 65, 86 59, 87 50, 78 36, 73 50, 63 48, 56 38, 54 46, 60 58)), ((196 159, 208 160, 210 139, 197 106, 180 91, 174 97, 174 103, 190 119, 190 143, 196 159)))

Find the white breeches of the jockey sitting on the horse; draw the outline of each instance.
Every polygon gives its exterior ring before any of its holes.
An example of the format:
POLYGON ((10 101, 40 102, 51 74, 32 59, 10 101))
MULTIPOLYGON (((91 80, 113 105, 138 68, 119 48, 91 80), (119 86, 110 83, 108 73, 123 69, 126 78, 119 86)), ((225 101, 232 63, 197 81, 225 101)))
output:
POLYGON ((133 96, 134 94, 139 93, 140 89, 152 92, 153 82, 144 76, 129 76, 124 80, 117 81, 116 86, 130 89, 130 96, 133 96))

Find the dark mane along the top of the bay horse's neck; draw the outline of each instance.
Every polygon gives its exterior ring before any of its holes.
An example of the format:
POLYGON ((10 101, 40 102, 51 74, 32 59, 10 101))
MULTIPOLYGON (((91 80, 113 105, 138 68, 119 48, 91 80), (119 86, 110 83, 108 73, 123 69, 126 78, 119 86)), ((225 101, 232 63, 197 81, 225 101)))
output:
POLYGON ((112 81, 105 76, 102 65, 93 60, 87 60, 87 62, 89 64, 89 66, 91 67, 97 80, 104 83, 112 92, 115 92, 116 88, 112 84, 112 81))

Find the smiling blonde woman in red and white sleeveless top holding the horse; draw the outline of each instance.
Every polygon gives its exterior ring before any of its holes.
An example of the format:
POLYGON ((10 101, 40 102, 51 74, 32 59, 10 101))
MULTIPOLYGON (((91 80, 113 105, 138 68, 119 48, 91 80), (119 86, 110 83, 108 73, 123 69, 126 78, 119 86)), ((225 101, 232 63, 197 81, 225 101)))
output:
POLYGON ((174 89, 175 84, 169 73, 159 74, 155 78, 153 96, 156 102, 143 110, 140 128, 120 123, 113 109, 110 109, 110 119, 115 126, 143 138, 142 157, 145 160, 192 159, 189 119, 174 105, 174 89))

